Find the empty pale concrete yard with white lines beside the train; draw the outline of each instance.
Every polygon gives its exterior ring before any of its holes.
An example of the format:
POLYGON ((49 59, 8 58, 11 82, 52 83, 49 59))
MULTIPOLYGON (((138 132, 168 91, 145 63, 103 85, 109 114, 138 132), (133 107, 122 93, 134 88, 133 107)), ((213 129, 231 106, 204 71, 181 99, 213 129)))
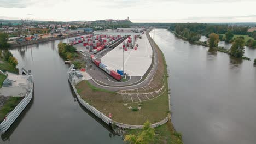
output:
MULTIPOLYGON (((142 39, 137 40, 138 49, 129 49, 125 51, 125 73, 131 76, 143 76, 152 62, 152 48, 146 34, 142 35, 142 39)), ((121 43, 115 47, 107 55, 101 58, 101 62, 112 69, 123 70, 123 50, 121 43)))

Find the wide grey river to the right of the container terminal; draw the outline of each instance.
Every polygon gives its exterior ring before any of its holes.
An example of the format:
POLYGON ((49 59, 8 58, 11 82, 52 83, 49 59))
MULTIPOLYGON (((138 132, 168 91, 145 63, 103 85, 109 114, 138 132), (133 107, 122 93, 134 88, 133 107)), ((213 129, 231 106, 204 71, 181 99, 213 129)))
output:
MULTIPOLYGON (((170 75, 172 122, 190 143, 255 143, 256 67, 154 29, 170 75)), ((231 45, 229 45, 231 46, 231 45)), ((245 56, 256 58, 246 47, 245 56)))

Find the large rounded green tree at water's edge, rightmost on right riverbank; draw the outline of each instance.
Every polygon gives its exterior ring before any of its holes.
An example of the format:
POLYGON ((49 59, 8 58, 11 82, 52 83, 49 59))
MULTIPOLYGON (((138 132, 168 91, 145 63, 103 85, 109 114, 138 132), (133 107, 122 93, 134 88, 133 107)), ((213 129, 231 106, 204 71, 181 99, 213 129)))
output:
POLYGON ((243 46, 245 46, 245 40, 236 38, 230 48, 231 55, 234 57, 242 57, 245 53, 245 47, 243 46))

